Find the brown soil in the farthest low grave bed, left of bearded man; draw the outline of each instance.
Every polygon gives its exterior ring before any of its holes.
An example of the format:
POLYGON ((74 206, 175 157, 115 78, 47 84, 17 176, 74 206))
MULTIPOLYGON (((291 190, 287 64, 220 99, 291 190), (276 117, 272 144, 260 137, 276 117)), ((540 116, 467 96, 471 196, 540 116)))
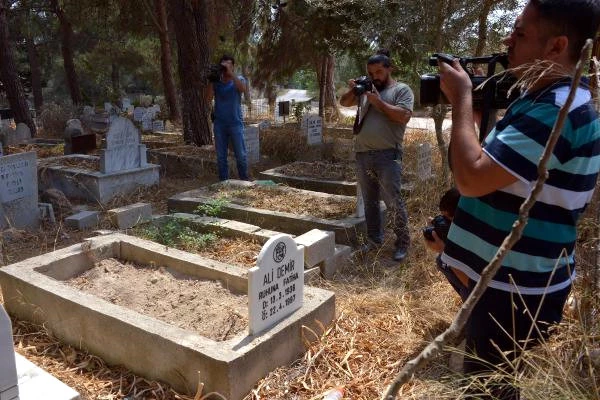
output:
POLYGON ((353 162, 298 161, 277 168, 277 172, 295 177, 327 181, 356 181, 356 169, 353 162))

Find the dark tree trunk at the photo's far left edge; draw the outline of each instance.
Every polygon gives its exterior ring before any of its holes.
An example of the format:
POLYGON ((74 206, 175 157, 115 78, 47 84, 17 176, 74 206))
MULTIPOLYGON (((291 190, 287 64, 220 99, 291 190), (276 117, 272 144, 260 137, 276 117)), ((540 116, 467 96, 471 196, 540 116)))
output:
POLYGON ((31 137, 36 134, 35 124, 31 118, 23 85, 17 74, 15 58, 11 47, 8 32, 8 10, 9 5, 5 0, 0 0, 0 79, 6 90, 6 97, 14 114, 16 123, 23 122, 31 131, 31 137))

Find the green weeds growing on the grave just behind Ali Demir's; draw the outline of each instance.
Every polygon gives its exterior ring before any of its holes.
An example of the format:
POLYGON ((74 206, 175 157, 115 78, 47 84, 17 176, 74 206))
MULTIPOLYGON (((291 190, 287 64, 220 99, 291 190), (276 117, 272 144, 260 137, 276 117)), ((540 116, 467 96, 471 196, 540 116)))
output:
POLYGON ((184 250, 202 250, 218 239, 214 233, 200 233, 185 225, 185 220, 172 218, 160 226, 148 225, 137 230, 137 234, 168 247, 184 250))

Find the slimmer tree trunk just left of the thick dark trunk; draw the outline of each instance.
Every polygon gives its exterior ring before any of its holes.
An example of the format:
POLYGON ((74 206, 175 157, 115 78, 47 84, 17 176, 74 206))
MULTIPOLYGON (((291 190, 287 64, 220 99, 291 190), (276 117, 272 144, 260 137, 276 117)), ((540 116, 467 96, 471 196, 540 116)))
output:
POLYGON ((177 105, 177 90, 173 78, 173 60, 171 57, 171 42, 169 41, 169 28, 167 22, 167 6, 165 0, 155 0, 154 7, 158 21, 158 38, 160 39, 160 69, 165 90, 165 100, 169 107, 169 119, 181 122, 181 113, 177 105))

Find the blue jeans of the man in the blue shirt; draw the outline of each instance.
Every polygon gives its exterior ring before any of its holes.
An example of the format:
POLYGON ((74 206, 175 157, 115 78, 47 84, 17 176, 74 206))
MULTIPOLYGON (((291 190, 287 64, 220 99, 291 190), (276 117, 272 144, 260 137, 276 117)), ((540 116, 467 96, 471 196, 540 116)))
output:
POLYGON ((239 178, 245 181, 249 180, 246 143, 244 142, 244 126, 241 124, 226 125, 215 122, 213 130, 215 132, 219 180, 224 181, 229 179, 229 165, 227 163, 229 142, 233 145, 239 178))

